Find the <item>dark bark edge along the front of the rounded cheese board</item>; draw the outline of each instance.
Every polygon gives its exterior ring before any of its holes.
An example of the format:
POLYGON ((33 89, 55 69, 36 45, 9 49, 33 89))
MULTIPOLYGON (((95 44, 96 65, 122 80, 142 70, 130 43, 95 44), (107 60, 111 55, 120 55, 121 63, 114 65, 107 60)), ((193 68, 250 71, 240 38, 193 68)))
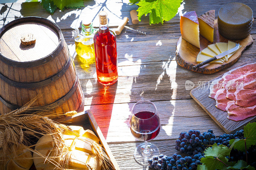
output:
POLYGON ((241 51, 241 53, 239 54, 239 56, 238 56, 235 60, 233 60, 233 61, 231 61, 231 62, 229 62, 229 63, 226 63, 226 64, 222 64, 222 65, 220 65, 219 67, 216 67, 216 68, 214 68, 214 69, 203 69, 203 68, 201 68, 201 67, 198 67, 197 69, 193 69, 192 67, 193 67, 194 65, 191 64, 191 63, 189 63, 189 62, 187 62, 187 61, 185 61, 185 60, 183 60, 183 59, 180 57, 180 54, 178 53, 178 49, 177 49, 178 42, 180 41, 180 39, 182 39, 182 37, 180 36, 180 38, 178 39, 178 41, 177 41, 177 43, 176 43, 176 50, 175 50, 176 62, 177 62, 177 64, 178 64, 180 67, 186 68, 186 69, 188 69, 188 70, 190 70, 190 71, 193 71, 193 72, 196 72, 196 73, 201 73, 201 74, 213 74, 213 73, 219 72, 220 70, 223 70, 223 69, 225 69, 225 68, 227 68, 227 67, 230 67, 230 66, 232 66, 233 64, 235 64, 236 61, 237 61, 238 59, 240 59, 242 53, 244 53, 244 50, 245 50, 248 46, 250 46, 250 45, 253 44, 253 39, 252 39, 251 34, 249 34, 249 38, 250 38, 250 41, 246 44, 246 46, 244 46, 244 49, 241 51), (184 65, 182 65, 182 63, 183 63, 184 65), (210 71, 208 71, 208 70, 210 70, 210 71))

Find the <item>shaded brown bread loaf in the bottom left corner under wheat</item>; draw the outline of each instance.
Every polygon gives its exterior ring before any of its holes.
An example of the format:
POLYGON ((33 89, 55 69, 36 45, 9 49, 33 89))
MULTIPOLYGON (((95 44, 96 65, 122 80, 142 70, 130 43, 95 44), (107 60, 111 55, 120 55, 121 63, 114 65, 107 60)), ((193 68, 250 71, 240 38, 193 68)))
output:
MULTIPOLYGON (((4 159, 4 155, 0 153, 0 160, 4 159)), ((29 170, 33 164, 32 154, 26 148, 20 148, 17 155, 6 155, 5 159, 9 159, 3 163, 0 161, 0 170, 29 170), (31 158, 31 159, 28 159, 31 158)))

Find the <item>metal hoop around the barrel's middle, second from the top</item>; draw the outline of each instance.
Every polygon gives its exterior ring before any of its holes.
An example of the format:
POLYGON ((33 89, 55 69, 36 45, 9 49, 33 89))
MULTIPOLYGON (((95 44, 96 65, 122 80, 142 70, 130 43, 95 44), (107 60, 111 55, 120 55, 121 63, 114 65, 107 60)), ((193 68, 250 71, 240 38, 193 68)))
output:
POLYGON ((71 63, 71 56, 69 55, 68 62, 66 63, 66 65, 62 68, 62 70, 58 74, 55 74, 46 80, 35 82, 35 83, 21 83, 21 82, 17 82, 17 81, 12 81, 12 80, 8 79, 7 77, 5 77, 1 73, 0 73, 0 78, 3 81, 5 81, 6 83, 8 83, 14 87, 25 88, 25 89, 43 87, 43 86, 46 86, 46 85, 58 80, 61 76, 63 76, 65 74, 65 72, 68 70, 70 63, 71 63))

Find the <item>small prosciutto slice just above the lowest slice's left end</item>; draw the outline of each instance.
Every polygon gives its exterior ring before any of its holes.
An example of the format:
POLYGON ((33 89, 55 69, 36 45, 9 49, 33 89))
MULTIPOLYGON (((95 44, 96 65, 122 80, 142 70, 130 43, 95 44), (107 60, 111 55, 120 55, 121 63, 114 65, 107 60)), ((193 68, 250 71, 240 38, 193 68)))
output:
POLYGON ((228 102, 231 101, 226 97, 226 89, 221 88, 216 92, 214 99, 216 100, 216 107, 220 110, 226 111, 228 102))

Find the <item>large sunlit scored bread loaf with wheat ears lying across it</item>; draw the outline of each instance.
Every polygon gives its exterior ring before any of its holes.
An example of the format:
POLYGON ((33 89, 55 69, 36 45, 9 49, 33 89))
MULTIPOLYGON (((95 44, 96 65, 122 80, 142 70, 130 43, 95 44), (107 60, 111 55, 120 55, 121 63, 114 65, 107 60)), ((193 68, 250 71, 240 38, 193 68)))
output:
MULTIPOLYGON (((84 130, 80 126, 69 126, 69 128, 73 131, 63 131, 63 139, 65 141, 65 145, 69 149, 68 155, 68 169, 83 169, 87 170, 85 164, 90 165, 95 170, 100 170, 102 167, 102 163, 100 159, 97 158, 92 143, 90 141, 99 142, 99 138, 90 130, 84 130)), ((53 156, 53 152, 51 150, 54 148, 54 142, 51 136, 43 136, 41 137, 35 150, 39 153, 47 156, 53 156)), ((40 157, 38 154, 34 153, 34 164, 37 170, 50 170, 53 169, 51 163, 44 163, 44 158, 40 157)), ((55 160, 58 162, 57 158, 55 160)))

